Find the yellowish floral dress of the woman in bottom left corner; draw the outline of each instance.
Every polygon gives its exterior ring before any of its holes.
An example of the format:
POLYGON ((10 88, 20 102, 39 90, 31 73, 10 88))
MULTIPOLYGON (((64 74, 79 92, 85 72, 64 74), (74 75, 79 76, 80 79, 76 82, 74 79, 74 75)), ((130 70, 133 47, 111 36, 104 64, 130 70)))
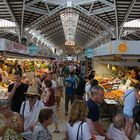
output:
MULTIPOLYGON (((5 126, 3 120, 4 120, 4 116, 0 114, 0 128, 3 128, 5 126)), ((12 122, 14 126, 18 125, 16 113, 12 115, 12 122)), ((13 129, 7 128, 1 140, 23 140, 23 138, 20 133, 15 132, 15 130, 13 129)))

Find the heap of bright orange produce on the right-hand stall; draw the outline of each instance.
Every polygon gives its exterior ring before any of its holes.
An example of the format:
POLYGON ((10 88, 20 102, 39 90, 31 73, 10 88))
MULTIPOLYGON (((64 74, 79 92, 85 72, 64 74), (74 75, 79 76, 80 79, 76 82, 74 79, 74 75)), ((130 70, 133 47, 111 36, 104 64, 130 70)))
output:
POLYGON ((119 101, 123 96, 124 92, 122 90, 112 90, 110 92, 106 92, 104 95, 106 99, 113 99, 116 101, 119 101))

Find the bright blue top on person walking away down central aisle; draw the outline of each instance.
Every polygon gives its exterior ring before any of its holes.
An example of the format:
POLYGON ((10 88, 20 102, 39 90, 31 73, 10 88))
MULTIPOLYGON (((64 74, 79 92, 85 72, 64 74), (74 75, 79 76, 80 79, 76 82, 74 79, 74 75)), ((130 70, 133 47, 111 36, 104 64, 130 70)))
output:
POLYGON ((75 78, 72 77, 72 76, 69 76, 65 79, 64 83, 65 83, 65 86, 66 86, 65 93, 68 94, 68 95, 72 95, 74 93, 74 89, 76 87, 75 78))

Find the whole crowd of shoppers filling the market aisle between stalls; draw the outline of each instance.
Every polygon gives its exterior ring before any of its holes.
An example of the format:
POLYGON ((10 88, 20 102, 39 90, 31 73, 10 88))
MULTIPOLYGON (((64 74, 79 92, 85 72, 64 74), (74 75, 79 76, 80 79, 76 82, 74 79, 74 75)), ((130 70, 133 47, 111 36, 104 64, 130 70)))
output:
POLYGON ((0 99, 0 136, 2 140, 52 140, 48 126, 53 123, 54 132, 61 133, 56 110, 64 96, 68 116, 64 140, 132 140, 140 83, 135 77, 129 80, 123 111, 113 116, 106 132, 100 115, 105 91, 95 79, 95 70, 86 75, 83 65, 80 70, 67 64, 42 77, 35 75, 31 83, 23 82, 21 72, 16 71, 8 98, 0 99))

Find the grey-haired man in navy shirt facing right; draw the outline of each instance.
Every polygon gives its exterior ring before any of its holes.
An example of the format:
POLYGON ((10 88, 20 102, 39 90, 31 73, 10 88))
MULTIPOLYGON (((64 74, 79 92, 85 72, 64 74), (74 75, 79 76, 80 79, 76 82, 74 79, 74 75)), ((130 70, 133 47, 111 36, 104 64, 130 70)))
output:
POLYGON ((104 99, 104 89, 101 86, 93 86, 91 88, 91 98, 87 101, 87 106, 89 113, 87 115, 87 123, 93 137, 102 137, 102 139, 108 140, 104 128, 102 127, 100 119, 99 104, 103 102, 104 99))

